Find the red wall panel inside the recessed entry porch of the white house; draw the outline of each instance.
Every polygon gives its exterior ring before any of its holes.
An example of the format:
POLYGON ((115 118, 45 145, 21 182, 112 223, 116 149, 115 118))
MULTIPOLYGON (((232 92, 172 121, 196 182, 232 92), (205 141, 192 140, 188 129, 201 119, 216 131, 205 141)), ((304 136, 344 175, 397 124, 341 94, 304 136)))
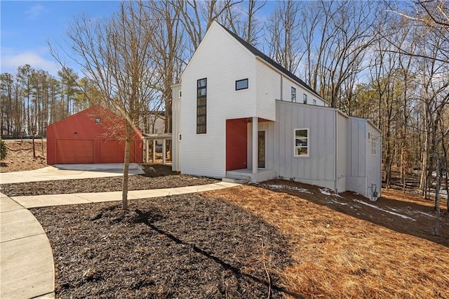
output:
POLYGON ((247 120, 226 120, 226 170, 247 168, 247 120))

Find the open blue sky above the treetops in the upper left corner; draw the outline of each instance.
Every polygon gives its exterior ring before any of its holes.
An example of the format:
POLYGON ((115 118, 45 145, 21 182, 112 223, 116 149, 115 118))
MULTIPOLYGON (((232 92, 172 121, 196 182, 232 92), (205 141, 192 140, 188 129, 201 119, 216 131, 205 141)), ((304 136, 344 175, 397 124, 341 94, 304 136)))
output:
POLYGON ((0 1, 0 73, 15 74, 31 65, 56 75, 58 65, 47 41, 63 43, 67 25, 76 15, 109 17, 119 1, 0 1))

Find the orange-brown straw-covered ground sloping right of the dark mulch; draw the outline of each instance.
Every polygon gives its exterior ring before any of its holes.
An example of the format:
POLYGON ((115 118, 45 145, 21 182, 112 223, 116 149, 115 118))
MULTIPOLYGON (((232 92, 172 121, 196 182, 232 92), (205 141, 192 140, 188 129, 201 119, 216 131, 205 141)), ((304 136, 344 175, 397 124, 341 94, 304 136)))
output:
POLYGON ((449 249, 290 194, 241 186, 208 192, 290 239, 286 288, 306 298, 449 298, 449 249))

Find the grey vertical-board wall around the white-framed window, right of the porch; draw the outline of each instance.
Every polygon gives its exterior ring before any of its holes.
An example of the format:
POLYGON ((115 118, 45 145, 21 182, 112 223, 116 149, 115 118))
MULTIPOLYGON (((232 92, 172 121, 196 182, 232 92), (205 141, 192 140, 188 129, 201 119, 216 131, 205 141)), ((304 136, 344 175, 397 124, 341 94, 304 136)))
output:
POLYGON ((335 109, 276 101, 276 176, 335 189, 335 109), (294 156, 295 129, 309 129, 309 157, 294 156))

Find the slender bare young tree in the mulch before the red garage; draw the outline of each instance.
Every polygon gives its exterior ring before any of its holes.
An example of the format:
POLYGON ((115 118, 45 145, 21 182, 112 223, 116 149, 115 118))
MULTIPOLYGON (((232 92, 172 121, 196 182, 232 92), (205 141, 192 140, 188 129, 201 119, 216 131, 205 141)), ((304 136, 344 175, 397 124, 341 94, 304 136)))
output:
MULTIPOLYGON (((95 82, 105 105, 126 120, 122 193, 125 210, 128 208, 131 135, 137 130, 140 112, 150 105, 159 84, 151 41, 160 20, 148 23, 143 15, 142 6, 123 3, 120 12, 109 20, 100 22, 80 16, 68 31, 73 60, 84 76, 95 82)), ((53 55, 59 58, 54 50, 53 47, 53 55)))

